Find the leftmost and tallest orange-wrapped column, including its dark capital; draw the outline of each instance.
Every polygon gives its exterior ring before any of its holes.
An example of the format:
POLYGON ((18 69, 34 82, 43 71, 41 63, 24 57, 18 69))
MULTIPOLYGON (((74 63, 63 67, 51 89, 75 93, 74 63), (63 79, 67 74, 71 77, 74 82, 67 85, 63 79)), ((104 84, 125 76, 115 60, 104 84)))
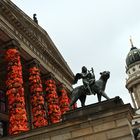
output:
POLYGON ((10 135, 28 130, 19 46, 15 40, 5 44, 5 60, 7 62, 6 95, 8 98, 10 135))

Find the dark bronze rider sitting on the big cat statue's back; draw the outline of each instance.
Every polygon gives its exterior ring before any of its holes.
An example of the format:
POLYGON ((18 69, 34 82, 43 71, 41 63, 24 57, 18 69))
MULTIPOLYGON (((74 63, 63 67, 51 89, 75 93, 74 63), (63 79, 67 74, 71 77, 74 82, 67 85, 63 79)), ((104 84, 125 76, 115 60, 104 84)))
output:
POLYGON ((83 66, 81 75, 82 75, 84 88, 88 89, 89 94, 92 95, 93 93, 91 91, 90 85, 95 82, 95 75, 94 75, 93 68, 91 69, 91 71, 89 71, 85 66, 83 66))

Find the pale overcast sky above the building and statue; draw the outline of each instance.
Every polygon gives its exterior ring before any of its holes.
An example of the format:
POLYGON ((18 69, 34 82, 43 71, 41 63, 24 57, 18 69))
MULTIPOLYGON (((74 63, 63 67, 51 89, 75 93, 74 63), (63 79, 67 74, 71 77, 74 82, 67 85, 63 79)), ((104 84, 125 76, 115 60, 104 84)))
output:
MULTIPOLYGON (((125 59, 140 48, 140 0, 12 0, 28 16, 37 14, 39 25, 50 35, 74 74, 83 65, 111 72, 106 93, 131 102, 125 88, 125 59)), ((86 104, 96 102, 88 96, 86 104)))

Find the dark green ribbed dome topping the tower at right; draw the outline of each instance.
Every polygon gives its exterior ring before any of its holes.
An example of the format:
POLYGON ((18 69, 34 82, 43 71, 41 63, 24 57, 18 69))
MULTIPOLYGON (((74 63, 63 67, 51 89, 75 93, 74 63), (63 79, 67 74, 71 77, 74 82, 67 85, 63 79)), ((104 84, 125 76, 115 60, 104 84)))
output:
POLYGON ((133 47, 130 49, 130 52, 128 53, 126 57, 126 65, 127 67, 137 61, 140 61, 140 49, 137 49, 136 47, 133 47))

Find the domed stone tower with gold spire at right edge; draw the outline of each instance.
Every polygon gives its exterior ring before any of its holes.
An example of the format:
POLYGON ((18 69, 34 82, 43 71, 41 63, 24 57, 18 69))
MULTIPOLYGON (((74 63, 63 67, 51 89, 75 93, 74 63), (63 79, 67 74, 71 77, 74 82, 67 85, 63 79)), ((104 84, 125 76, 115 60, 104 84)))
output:
POLYGON ((132 40, 131 49, 126 57, 126 88, 128 89, 135 109, 140 108, 140 49, 134 47, 132 40))

